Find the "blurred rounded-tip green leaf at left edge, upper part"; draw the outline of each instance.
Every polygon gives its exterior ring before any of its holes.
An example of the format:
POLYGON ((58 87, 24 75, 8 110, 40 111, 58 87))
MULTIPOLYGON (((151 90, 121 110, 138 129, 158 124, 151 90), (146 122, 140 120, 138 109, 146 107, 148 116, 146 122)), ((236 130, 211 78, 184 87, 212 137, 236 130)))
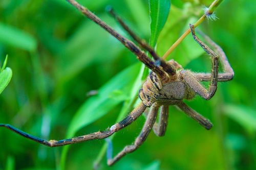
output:
POLYGON ((22 48, 27 51, 35 51, 37 42, 28 33, 15 27, 0 22, 0 43, 22 48))

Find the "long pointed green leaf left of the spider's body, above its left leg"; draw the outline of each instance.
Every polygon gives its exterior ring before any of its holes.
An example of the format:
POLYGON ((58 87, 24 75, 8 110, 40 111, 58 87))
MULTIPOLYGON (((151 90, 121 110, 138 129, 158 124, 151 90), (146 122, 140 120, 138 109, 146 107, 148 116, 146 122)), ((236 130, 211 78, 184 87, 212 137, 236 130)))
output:
MULTIPOLYGON (((124 69, 108 83, 103 85, 99 89, 97 95, 92 96, 89 100, 84 102, 71 121, 67 138, 73 137, 78 130, 95 122, 119 103, 127 98, 130 98, 130 91, 133 87, 134 81, 136 80, 139 69, 139 64, 135 64, 124 69), (117 91, 118 95, 117 98, 115 98, 114 95, 117 93, 117 91), (120 92, 122 95, 120 95, 120 92)), ((62 151, 62 168, 65 165, 68 148, 69 146, 65 147, 65 149, 62 151)))

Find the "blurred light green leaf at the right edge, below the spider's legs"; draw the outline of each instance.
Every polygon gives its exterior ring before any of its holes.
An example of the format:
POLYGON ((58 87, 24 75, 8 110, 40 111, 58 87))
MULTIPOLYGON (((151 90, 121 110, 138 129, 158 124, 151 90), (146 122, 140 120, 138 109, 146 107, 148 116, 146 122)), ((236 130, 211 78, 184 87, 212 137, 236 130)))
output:
POLYGON ((256 131, 256 112, 254 109, 243 105, 226 105, 223 111, 228 117, 248 130, 248 132, 256 131))

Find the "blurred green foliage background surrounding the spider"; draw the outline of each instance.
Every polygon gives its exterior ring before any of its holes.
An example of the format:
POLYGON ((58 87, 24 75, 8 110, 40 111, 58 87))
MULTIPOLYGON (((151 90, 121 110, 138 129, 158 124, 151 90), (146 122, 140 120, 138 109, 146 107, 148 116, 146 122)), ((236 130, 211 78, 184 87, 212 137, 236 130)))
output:
MULTIPOLYGON (((173 0, 158 54, 162 56, 211 2, 173 0)), ((150 37, 147 0, 79 3, 125 35, 105 11, 112 5, 140 37, 150 37)), ((210 101, 186 101, 214 127, 207 131, 170 107, 164 137, 151 133, 136 152, 112 167, 103 155, 99 169, 256 169, 255 9, 254 0, 225 0, 216 11, 219 19, 205 20, 199 27, 222 46, 235 72, 232 81, 219 83, 210 101)), ((132 96, 141 83, 136 81, 136 57, 64 0, 0 1, 1 65, 6 54, 13 77, 0 95, 0 123, 46 139, 110 127, 119 113, 132 109, 132 96), (98 94, 88 96, 91 90, 98 94)), ((186 69, 210 71, 209 57, 190 35, 171 58, 186 69)), ((143 123, 141 116, 116 134, 114 154, 134 141, 143 123)), ((48 148, 1 128, 0 169, 92 169, 103 145, 104 140, 93 140, 48 148)))

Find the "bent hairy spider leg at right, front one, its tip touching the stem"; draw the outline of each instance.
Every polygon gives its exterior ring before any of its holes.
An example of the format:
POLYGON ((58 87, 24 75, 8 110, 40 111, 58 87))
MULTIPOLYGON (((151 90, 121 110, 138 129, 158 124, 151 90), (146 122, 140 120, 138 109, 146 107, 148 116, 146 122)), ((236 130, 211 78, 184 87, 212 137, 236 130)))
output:
POLYGON ((205 50, 205 52, 211 56, 212 69, 211 69, 211 83, 210 83, 209 90, 205 89, 204 86, 202 86, 198 82, 198 80, 196 79, 196 77, 194 76, 194 74, 191 71, 181 70, 180 74, 183 77, 184 81, 196 93, 198 93, 204 99, 209 100, 212 98, 212 96, 214 96, 214 94, 217 90, 218 71, 219 71, 219 56, 196 36, 194 25, 189 25, 189 26, 190 26, 193 38, 201 45, 201 47, 205 50))

